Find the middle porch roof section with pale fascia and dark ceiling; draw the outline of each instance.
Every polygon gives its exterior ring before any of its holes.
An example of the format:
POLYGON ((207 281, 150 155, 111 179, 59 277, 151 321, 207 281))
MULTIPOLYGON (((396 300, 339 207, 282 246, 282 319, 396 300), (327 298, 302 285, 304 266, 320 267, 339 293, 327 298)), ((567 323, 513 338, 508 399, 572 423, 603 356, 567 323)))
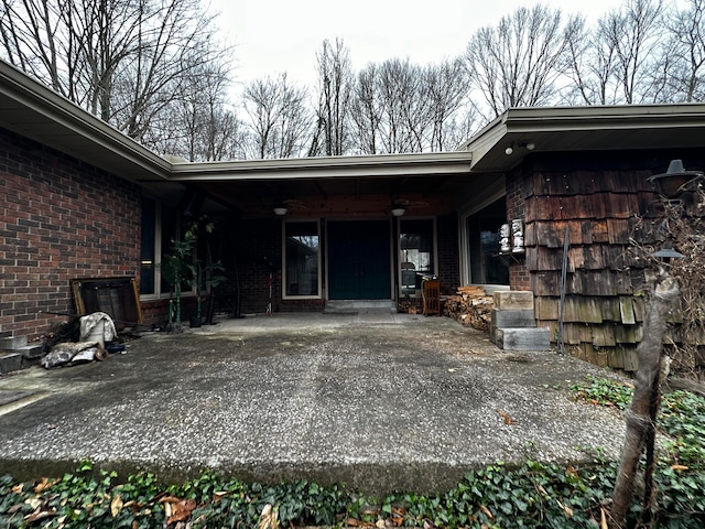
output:
POLYGON ((175 164, 172 181, 203 191, 243 216, 383 216, 454 210, 473 180, 469 152, 175 164))

